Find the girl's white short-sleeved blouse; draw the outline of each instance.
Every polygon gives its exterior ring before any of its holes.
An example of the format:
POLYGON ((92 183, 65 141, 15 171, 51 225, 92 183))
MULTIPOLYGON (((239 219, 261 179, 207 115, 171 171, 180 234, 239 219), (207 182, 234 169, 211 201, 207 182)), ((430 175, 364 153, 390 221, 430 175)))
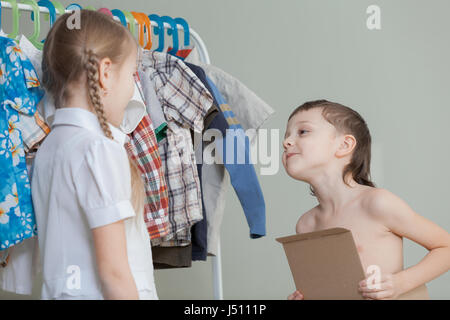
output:
POLYGON ((158 299, 149 236, 131 205, 127 136, 80 108, 56 110, 33 170, 42 299, 103 299, 91 229, 125 220, 128 262, 141 299, 158 299), (138 219, 137 219, 138 218, 138 219))

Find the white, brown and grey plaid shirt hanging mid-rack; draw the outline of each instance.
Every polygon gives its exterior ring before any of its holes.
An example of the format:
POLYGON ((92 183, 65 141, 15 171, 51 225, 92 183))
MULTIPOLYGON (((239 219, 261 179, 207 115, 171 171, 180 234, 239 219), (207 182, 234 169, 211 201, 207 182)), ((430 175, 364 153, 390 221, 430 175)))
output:
POLYGON ((144 50, 141 66, 149 75, 167 120, 167 138, 159 152, 169 191, 169 233, 152 245, 191 242, 190 228, 203 219, 201 186, 190 134, 203 130, 203 118, 213 104, 209 91, 180 59, 144 50))

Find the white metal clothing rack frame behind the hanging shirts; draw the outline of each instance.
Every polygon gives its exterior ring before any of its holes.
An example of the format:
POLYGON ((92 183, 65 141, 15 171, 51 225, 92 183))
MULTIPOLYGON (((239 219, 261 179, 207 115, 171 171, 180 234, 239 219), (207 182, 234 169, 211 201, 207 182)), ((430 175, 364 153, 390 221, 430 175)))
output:
MULTIPOLYGON (((17 4, 19 11, 33 11, 33 7, 28 4, 17 4)), ((9 2, 1 1, 1 7, 3 8, 9 8, 12 9, 12 6, 9 2)), ((50 13, 48 8, 39 6, 39 11, 42 13, 50 13)), ((72 10, 65 10, 66 13, 72 12, 72 10)), ((58 13, 57 13, 58 14, 58 13)), ((1 17, 0 17, 1 18, 1 17)), ((114 20, 117 20, 120 22, 119 18, 113 17, 114 20)), ((137 24, 137 21, 134 20, 134 23, 137 24)), ((155 21, 151 21, 152 26, 158 26, 155 21)), ((164 29, 170 29, 170 24, 164 22, 164 29)), ((177 25, 177 29, 183 30, 183 27, 180 25, 177 25)), ((208 50, 206 48, 205 43, 203 42, 200 35, 195 32, 194 29, 189 27, 189 34, 192 36, 192 39, 195 43, 195 47, 198 50, 200 61, 205 64, 210 64, 209 54, 208 50)), ((213 290, 214 290, 214 299, 215 300, 223 300, 223 284, 222 284, 222 259, 221 259, 221 251, 220 251, 220 240, 218 241, 217 246, 217 255, 211 257, 212 262, 212 269, 213 269, 213 290)))

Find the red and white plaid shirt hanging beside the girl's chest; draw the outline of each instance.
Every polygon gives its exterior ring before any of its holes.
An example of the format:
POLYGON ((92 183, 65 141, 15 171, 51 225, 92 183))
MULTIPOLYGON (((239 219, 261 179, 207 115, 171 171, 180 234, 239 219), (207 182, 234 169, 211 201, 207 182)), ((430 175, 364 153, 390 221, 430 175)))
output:
MULTIPOLYGON (((136 84, 141 89, 139 79, 136 80, 136 84)), ((143 95, 142 98, 144 98, 143 95)), ((152 120, 148 114, 128 136, 130 140, 125 144, 125 148, 128 155, 136 161, 144 179, 147 196, 144 206, 144 221, 150 239, 166 236, 169 232, 167 184, 152 120)))

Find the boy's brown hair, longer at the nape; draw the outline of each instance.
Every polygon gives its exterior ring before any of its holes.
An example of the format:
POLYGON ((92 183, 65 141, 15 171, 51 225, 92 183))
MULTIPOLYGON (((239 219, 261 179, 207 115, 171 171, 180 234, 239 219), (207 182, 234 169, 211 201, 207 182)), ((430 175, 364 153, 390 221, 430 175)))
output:
POLYGON ((327 100, 308 101, 297 107, 289 116, 288 121, 297 113, 310 109, 322 108, 322 115, 338 132, 351 134, 356 139, 350 163, 344 168, 342 178, 351 174, 353 179, 362 185, 375 187, 370 177, 370 157, 372 138, 369 128, 361 115, 342 104, 327 100))

